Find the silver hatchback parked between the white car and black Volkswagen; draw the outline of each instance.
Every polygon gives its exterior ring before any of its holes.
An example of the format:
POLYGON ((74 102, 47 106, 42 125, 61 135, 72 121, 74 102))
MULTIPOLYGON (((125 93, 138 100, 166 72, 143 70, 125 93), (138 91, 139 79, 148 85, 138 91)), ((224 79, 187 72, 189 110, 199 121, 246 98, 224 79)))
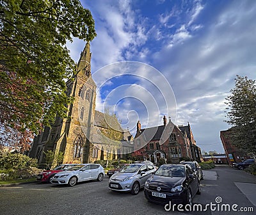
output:
POLYGON ((131 192, 137 195, 146 180, 157 170, 156 166, 147 163, 127 164, 109 179, 109 189, 131 192))

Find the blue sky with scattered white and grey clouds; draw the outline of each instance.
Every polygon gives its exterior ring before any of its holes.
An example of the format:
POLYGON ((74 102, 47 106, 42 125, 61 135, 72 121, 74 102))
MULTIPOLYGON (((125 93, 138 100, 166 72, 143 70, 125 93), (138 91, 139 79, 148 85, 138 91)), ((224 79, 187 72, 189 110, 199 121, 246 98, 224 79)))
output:
MULTIPOLYGON (((123 129, 191 125, 205 152, 223 153, 225 98, 235 78, 256 79, 256 1, 81 0, 92 12, 96 109, 123 129)), ((74 61, 85 42, 67 44, 74 61)))

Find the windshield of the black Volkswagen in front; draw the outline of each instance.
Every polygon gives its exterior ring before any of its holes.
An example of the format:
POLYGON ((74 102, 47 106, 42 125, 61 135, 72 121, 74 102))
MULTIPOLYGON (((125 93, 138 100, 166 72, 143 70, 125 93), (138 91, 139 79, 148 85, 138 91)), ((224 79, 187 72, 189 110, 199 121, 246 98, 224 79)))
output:
POLYGON ((155 175, 165 177, 184 177, 185 169, 184 166, 160 166, 155 175))

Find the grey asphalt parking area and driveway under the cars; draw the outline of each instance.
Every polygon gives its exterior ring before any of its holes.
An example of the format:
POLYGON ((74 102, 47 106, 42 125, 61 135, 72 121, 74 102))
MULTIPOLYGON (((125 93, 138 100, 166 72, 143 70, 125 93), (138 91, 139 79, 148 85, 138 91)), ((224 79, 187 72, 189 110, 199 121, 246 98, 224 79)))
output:
POLYGON ((203 212, 165 211, 163 205, 147 202, 143 190, 136 196, 109 191, 105 177, 102 182, 83 182, 74 187, 37 182, 0 187, 0 214, 255 214, 256 177, 227 166, 204 173, 202 195, 195 196, 194 204, 201 204, 202 209, 211 202, 219 206, 237 204, 236 209, 252 208, 253 212, 212 211, 209 207, 203 212), (218 197, 220 203, 216 203, 218 197))

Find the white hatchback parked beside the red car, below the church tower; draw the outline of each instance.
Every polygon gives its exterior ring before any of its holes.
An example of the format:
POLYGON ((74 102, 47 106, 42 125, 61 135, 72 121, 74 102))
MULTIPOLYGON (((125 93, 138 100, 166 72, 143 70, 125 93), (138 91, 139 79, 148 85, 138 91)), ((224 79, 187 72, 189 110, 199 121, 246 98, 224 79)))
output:
POLYGON ((97 179, 102 181, 104 175, 104 168, 100 164, 77 164, 69 170, 61 171, 54 175, 51 183, 75 186, 77 182, 83 182, 85 180, 97 179))

